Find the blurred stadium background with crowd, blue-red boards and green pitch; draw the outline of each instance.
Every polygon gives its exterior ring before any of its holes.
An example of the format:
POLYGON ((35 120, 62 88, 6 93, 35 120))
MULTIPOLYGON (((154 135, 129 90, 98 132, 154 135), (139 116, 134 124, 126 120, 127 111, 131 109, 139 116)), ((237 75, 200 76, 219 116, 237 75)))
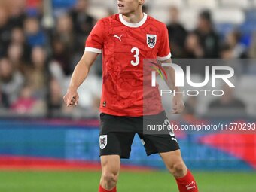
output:
MULTIPOLYGON (((100 56, 78 107, 66 108, 62 96, 96 20, 116 12, 114 0, 0 1, 0 191, 97 190, 100 56)), ((172 58, 236 61, 233 90, 218 99, 186 96, 172 122, 255 123, 256 1, 147 0, 145 12, 166 23, 172 58)), ((194 66, 194 79, 201 69, 194 66)), ((256 190, 254 132, 177 132, 201 191, 256 190)), ((163 170, 136 137, 120 191, 177 191, 163 170)))

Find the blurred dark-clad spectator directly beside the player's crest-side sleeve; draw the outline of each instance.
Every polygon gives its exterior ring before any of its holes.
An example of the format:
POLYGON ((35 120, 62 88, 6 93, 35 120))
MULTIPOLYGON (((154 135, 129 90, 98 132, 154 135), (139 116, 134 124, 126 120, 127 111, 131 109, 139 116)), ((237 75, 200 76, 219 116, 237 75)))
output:
POLYGON ((187 31, 179 23, 178 8, 172 7, 169 9, 170 23, 167 25, 169 31, 169 42, 174 58, 181 58, 184 53, 184 44, 187 37, 187 31))

